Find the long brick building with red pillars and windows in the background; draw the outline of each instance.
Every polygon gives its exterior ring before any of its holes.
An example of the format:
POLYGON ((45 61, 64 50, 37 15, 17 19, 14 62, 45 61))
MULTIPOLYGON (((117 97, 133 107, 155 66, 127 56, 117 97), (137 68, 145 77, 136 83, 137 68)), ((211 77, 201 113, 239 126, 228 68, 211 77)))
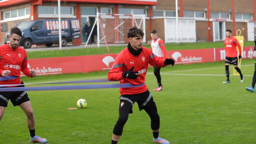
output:
MULTIPOLYGON (((222 41, 225 30, 235 35, 241 30, 245 40, 253 40, 256 26, 256 0, 178 0, 180 42, 222 41), (235 17, 235 19, 234 19, 235 17)), ((61 17, 77 17, 83 23, 95 21, 96 13, 145 14, 146 41, 156 29, 165 42, 176 42, 175 0, 61 0, 61 17)), ((20 22, 57 19, 57 0, 0 0, 0 44, 6 33, 20 22)), ((114 34, 112 35, 114 36, 114 34)), ((110 37, 112 37, 110 36, 110 37)), ((81 38, 73 44, 85 42, 81 38)))

